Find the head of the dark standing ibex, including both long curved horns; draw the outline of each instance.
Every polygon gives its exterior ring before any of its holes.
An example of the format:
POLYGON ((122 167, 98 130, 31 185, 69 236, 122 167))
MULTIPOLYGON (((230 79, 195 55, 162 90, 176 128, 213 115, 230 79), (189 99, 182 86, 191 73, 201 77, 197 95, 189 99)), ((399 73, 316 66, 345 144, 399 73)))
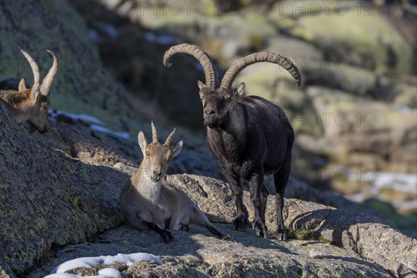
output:
POLYGON ((258 52, 240 58, 227 70, 219 86, 218 74, 215 71, 213 62, 210 56, 201 48, 193 44, 179 44, 171 47, 163 56, 163 64, 165 67, 172 65, 168 63, 168 60, 177 53, 189 54, 202 64, 206 76, 206 84, 202 81, 198 82, 199 95, 204 108, 204 124, 210 128, 220 126, 229 115, 229 111, 234 107, 239 97, 243 95, 245 83, 240 83, 235 90, 231 88, 231 85, 239 72, 249 65, 259 62, 281 65, 281 67, 284 67, 293 76, 297 85, 301 83, 301 76, 297 67, 290 59, 279 54, 258 52))

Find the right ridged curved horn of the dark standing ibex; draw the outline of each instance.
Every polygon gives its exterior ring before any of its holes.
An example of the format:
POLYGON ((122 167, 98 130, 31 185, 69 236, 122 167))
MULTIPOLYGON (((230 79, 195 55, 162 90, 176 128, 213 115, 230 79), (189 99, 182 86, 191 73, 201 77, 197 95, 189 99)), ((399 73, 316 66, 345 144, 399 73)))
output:
POLYGON ((240 71, 242 71, 245 67, 250 66, 254 63, 260 63, 260 62, 269 62, 278 64, 281 67, 284 67, 291 76, 295 79, 295 83, 300 86, 301 83, 301 76, 300 72, 298 72, 297 67, 291 62, 290 59, 281 56, 279 54, 271 53, 271 52, 257 52, 254 54, 250 54, 248 56, 245 56, 243 58, 240 58, 236 64, 234 64, 232 67, 227 70, 227 72, 224 74, 224 77, 222 79, 222 84, 220 85, 221 88, 229 89, 231 88, 231 84, 233 83, 236 76, 239 74, 240 71))

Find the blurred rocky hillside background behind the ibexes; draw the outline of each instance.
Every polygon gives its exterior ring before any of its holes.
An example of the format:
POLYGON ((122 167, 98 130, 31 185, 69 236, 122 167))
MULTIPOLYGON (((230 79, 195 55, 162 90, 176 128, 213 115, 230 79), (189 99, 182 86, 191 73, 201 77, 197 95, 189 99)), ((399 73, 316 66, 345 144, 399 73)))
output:
POLYGON ((130 144, 95 137, 126 145, 137 162, 135 138, 138 130, 149 134, 149 120, 161 137, 179 128, 186 147, 172 172, 220 177, 205 145, 197 93, 204 74, 189 56, 163 67, 169 47, 201 46, 220 78, 255 51, 291 58, 302 72, 300 88, 265 63, 235 82, 246 83, 247 95, 277 102, 291 119, 287 197, 375 213, 417 237, 416 1, 31 0, 0 7, 0 81, 33 83, 17 45, 41 70, 49 68, 46 49, 55 51, 61 67, 51 107, 129 134, 130 144))

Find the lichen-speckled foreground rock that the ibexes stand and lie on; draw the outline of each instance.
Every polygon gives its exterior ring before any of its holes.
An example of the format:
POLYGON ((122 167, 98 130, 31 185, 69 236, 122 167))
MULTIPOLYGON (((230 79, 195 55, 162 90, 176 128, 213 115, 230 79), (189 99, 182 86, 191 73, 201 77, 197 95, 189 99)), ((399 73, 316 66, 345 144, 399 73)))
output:
MULTIPOLYGON (((120 265, 126 277, 140 277, 142 272, 149 277, 181 277, 186 273, 202 277, 246 273, 270 277, 279 273, 288 277, 314 273, 320 277, 332 277, 335 273, 342 277, 415 275, 413 258, 417 240, 361 213, 286 199, 286 227, 293 238, 300 240, 280 243, 272 237, 256 238, 252 231, 235 232, 230 224, 234 202, 227 185, 207 177, 182 174, 168 179, 186 191, 211 221, 226 223, 218 227, 232 234, 235 243, 212 238, 206 231, 193 227, 197 234, 176 231, 179 244, 165 245, 156 234, 118 227, 122 218, 117 197, 132 171, 130 167, 83 163, 65 152, 51 149, 54 148, 51 142, 59 140, 51 140, 49 136, 45 141, 27 133, 10 118, 2 104, 0 115, 0 196, 3 199, 0 265, 10 277, 23 273, 41 277, 57 263, 78 256, 133 251, 153 252, 167 263, 158 268, 147 263, 137 263, 129 269, 120 265), (103 231, 105 234, 101 234, 103 231), (322 252, 324 259, 310 258, 310 250, 322 252)), ((100 160, 102 154, 90 152, 90 157, 100 160)), ((128 159, 122 156, 115 159, 124 160, 128 159)), ((247 194, 245 203, 253 215, 247 194)), ((274 231, 273 196, 269 198, 267 211, 268 228, 274 231)))

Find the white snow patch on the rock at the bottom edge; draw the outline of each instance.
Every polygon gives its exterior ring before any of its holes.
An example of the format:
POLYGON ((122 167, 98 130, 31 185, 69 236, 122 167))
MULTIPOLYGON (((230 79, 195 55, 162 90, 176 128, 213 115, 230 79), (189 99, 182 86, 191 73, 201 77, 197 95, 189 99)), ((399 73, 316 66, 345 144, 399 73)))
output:
MULTIPOLYGON (((79 275, 72 275, 65 273, 67 270, 74 268, 91 268, 94 265, 110 265, 111 263, 120 262, 131 266, 138 261, 155 261, 159 265, 163 264, 161 259, 148 253, 133 253, 133 254, 117 254, 116 256, 91 256, 85 258, 78 258, 71 261, 61 263, 51 271, 51 275, 45 278, 78 278, 79 275)), ((99 275, 88 276, 93 278, 120 278, 122 275, 114 268, 104 268, 99 270, 99 275)))

